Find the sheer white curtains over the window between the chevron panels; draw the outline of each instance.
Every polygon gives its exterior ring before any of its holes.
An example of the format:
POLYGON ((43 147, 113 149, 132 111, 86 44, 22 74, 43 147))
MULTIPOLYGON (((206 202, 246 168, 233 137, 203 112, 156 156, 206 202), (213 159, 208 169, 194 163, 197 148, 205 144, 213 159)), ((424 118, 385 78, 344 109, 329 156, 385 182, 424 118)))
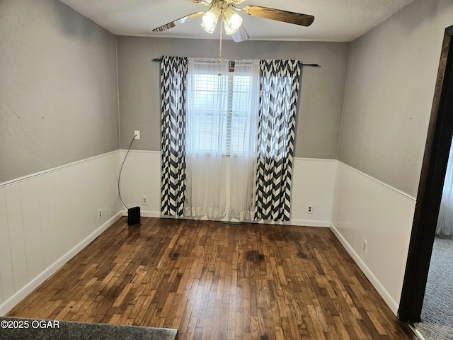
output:
POLYGON ((184 215, 253 217, 258 77, 258 61, 189 58, 184 215))

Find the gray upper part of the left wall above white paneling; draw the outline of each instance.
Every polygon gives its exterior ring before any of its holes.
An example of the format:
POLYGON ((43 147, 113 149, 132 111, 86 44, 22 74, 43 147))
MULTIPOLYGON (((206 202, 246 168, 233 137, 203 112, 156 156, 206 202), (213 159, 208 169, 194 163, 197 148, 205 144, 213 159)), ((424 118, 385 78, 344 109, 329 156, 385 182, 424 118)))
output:
POLYGON ((119 147, 116 37, 57 0, 0 1, 0 183, 119 147))

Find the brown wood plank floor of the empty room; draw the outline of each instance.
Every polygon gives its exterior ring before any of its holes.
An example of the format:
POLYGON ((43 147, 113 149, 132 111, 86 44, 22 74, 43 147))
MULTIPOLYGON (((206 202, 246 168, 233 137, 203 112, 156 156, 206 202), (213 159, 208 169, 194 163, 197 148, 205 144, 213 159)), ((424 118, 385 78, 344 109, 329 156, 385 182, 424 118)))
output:
POLYGON ((8 313, 179 339, 416 339, 330 229, 126 217, 8 313))

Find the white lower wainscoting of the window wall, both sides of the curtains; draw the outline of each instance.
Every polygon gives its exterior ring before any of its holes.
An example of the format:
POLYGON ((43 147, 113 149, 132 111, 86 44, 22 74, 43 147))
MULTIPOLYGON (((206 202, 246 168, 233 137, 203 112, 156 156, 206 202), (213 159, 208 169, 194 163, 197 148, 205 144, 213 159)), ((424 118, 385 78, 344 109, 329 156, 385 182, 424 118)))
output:
MULTIPOLYGON (((121 160, 126 152, 121 150, 121 160)), ((294 159, 292 220, 289 224, 330 226, 336 162, 332 159, 294 159), (314 207, 311 214, 306 213, 307 205, 314 207)), ((139 206, 143 216, 161 216, 161 152, 129 152, 122 168, 121 196, 128 208, 139 206), (147 196, 147 205, 142 205, 142 196, 147 196)))

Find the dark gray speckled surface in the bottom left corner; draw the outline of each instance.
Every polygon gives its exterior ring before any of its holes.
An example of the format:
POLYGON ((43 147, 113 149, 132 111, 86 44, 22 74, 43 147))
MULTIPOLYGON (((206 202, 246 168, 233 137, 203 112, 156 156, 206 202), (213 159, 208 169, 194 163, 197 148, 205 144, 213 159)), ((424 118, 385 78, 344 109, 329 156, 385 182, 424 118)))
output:
POLYGON ((0 317, 0 339, 176 340, 178 329, 0 317))

